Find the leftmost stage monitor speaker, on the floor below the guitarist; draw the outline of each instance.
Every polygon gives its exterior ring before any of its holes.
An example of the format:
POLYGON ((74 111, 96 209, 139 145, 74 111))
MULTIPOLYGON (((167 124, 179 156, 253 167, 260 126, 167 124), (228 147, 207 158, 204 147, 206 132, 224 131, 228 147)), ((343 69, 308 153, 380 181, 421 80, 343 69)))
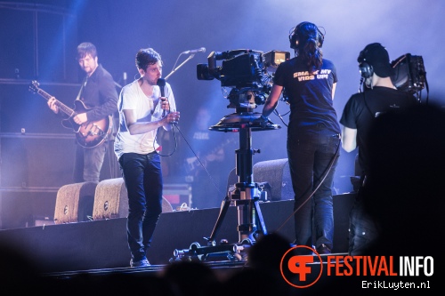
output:
POLYGON ((54 223, 88 221, 93 215, 95 182, 83 182, 62 186, 57 192, 54 223))

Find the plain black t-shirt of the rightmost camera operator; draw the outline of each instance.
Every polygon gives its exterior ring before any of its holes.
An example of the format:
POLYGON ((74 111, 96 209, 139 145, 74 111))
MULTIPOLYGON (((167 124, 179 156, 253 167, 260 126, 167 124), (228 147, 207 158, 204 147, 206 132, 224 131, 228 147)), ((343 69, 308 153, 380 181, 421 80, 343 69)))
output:
POLYGON ((374 86, 372 90, 355 93, 347 101, 340 118, 340 124, 357 130, 361 171, 368 171, 367 136, 373 119, 385 112, 397 112, 415 104, 417 104, 417 100, 409 92, 382 86, 374 86))

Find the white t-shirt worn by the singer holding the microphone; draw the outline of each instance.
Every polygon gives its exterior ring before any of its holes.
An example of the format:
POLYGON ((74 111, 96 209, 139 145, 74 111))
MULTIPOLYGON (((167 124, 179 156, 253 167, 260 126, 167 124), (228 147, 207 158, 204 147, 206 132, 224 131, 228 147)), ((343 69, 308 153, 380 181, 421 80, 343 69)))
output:
MULTIPOLYGON (((164 112, 161 105, 158 104, 160 96, 161 92, 158 85, 154 86, 153 94, 150 97, 145 95, 145 93, 142 92, 138 80, 134 80, 133 83, 127 84, 122 88, 119 100, 117 101, 117 109, 119 111, 119 130, 114 143, 114 151, 117 159, 124 153, 149 154, 158 148, 159 145, 156 141, 156 133, 158 132, 158 129, 141 134, 130 134, 130 132, 126 130, 123 110, 134 110, 137 122, 158 121, 162 118, 164 112)), ((174 112, 176 110, 174 94, 168 83, 166 83, 165 86, 165 96, 170 104, 170 111, 174 112)), ((169 128, 171 128, 171 126, 164 126, 164 129, 166 130, 169 128)))

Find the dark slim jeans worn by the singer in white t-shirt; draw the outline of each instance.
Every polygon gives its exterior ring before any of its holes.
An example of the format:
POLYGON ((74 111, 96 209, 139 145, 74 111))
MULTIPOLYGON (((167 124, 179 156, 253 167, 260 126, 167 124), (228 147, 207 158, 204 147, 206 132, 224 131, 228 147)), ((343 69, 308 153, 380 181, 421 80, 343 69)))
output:
POLYGON ((125 153, 120 156, 119 164, 128 192, 128 247, 134 261, 144 260, 162 212, 160 158, 156 152, 125 153))

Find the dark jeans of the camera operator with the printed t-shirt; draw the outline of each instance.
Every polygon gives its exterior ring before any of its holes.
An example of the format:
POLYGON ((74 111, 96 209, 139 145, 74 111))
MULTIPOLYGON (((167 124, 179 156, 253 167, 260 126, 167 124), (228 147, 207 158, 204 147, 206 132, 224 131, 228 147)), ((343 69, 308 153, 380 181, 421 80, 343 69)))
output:
POLYGON ((325 244, 332 250, 332 185, 339 156, 340 135, 323 130, 323 125, 319 125, 318 132, 294 135, 289 132, 287 136, 287 156, 295 193, 294 211, 298 209, 295 212, 295 244, 309 247, 315 245, 316 248, 325 244), (312 196, 319 185, 320 188, 312 196))

